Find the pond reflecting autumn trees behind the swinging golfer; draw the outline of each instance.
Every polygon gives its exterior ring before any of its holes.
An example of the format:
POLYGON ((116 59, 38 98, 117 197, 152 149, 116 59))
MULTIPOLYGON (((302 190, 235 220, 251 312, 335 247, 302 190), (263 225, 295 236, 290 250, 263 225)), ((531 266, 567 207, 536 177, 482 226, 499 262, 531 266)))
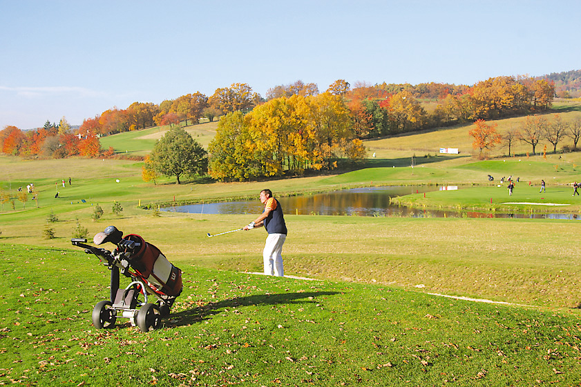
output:
MULTIPOLYGON (((435 190, 454 190, 457 186, 386 186, 354 188, 334 192, 294 197, 280 197, 280 205, 287 214, 296 215, 355 215, 363 217, 470 217, 529 219, 579 219, 574 214, 499 214, 486 212, 457 212, 455 210, 420 210, 390 203, 391 197, 435 190)), ((276 197, 276 192, 275 192, 276 197)), ((263 205, 258 200, 226 203, 191 204, 162 208, 163 211, 191 214, 259 214, 263 205)))

